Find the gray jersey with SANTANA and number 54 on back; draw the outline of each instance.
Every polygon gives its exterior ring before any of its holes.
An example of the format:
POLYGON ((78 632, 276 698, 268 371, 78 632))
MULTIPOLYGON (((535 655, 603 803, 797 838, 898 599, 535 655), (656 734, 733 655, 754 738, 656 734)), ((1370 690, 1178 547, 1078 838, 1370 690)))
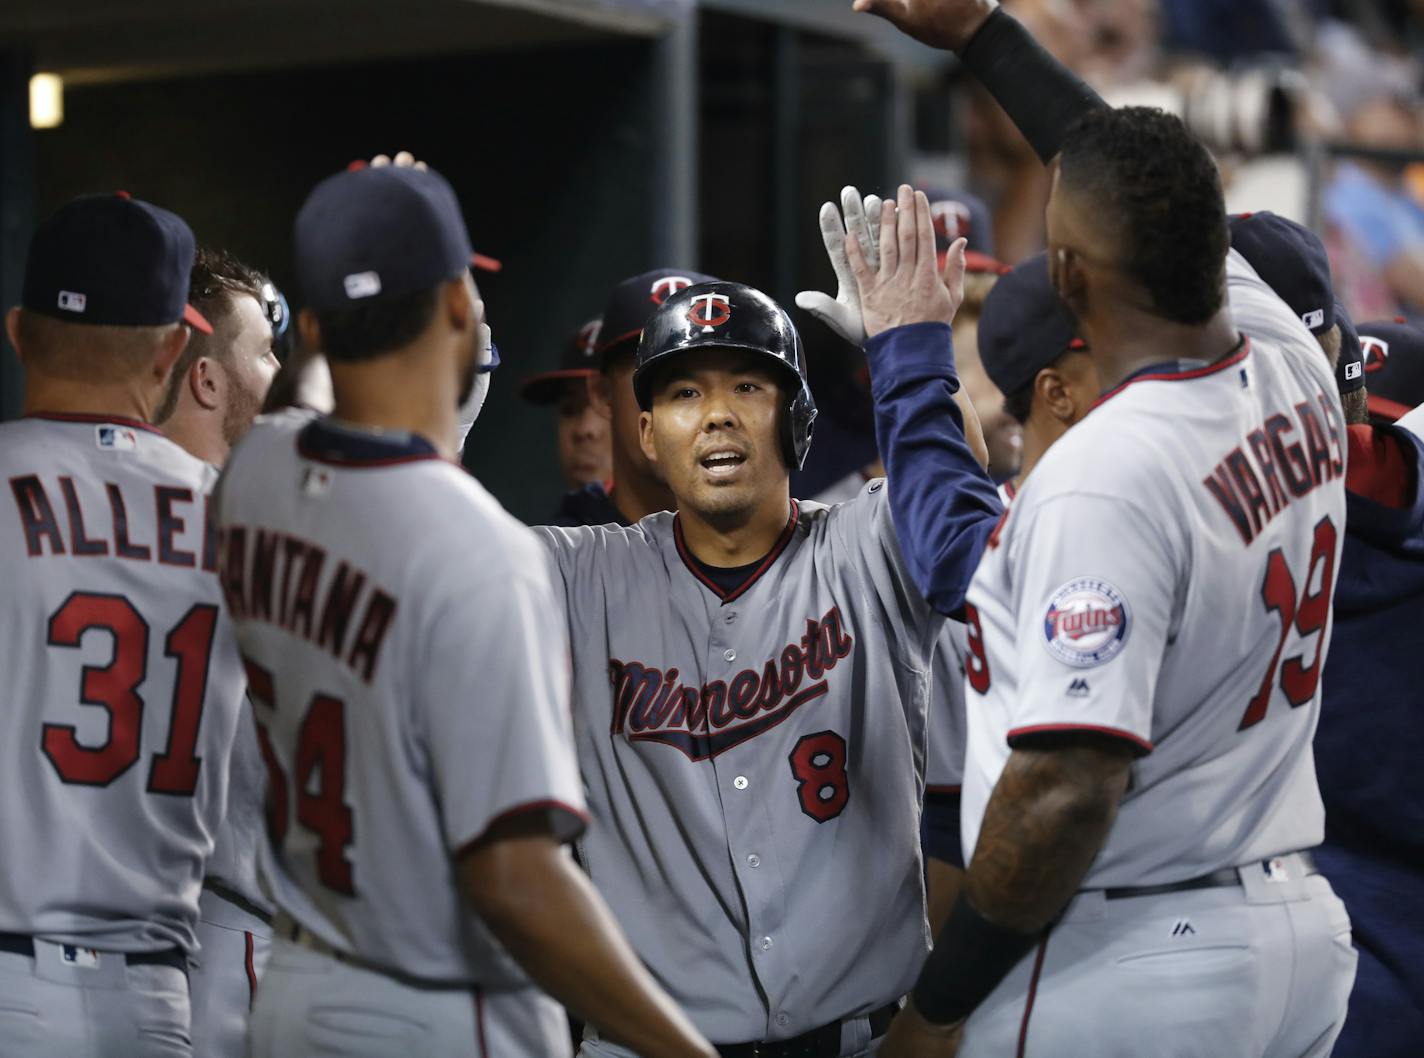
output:
POLYGON ((303 412, 258 420, 216 507, 278 906, 375 965, 520 987, 451 857, 517 812, 582 829, 538 544, 422 439, 303 412))

